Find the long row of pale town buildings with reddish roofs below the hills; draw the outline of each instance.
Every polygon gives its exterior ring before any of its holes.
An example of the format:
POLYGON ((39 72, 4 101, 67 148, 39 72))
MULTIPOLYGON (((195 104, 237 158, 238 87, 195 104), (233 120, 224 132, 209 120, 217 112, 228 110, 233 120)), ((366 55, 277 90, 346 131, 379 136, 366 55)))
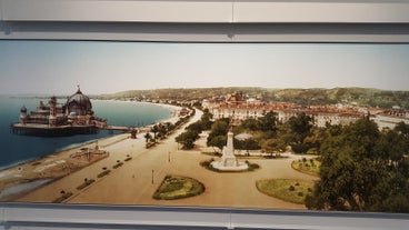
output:
POLYGON ((242 93, 232 93, 221 98, 205 99, 202 107, 209 109, 215 119, 231 118, 236 121, 260 118, 267 112, 277 112, 278 121, 287 122, 291 117, 305 112, 313 118, 317 127, 329 124, 350 124, 369 116, 379 129, 392 129, 397 123, 409 123, 409 111, 397 108, 379 109, 345 104, 300 106, 291 102, 265 102, 257 98, 246 98, 242 93))

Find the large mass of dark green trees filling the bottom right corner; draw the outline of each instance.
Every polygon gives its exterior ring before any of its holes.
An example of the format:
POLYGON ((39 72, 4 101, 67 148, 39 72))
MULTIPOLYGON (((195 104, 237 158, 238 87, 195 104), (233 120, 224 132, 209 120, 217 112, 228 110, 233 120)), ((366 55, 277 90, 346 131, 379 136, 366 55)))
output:
POLYGON ((343 127, 321 144, 321 180, 307 207, 409 212, 409 167, 402 154, 408 147, 401 134, 380 132, 369 119, 343 127))

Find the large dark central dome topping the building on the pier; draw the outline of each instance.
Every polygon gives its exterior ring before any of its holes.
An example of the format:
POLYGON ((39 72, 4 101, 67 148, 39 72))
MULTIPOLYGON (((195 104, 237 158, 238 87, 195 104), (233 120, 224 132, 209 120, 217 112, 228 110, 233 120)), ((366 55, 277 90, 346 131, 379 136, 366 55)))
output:
POLYGON ((77 92, 68 98, 67 100, 67 113, 74 112, 77 114, 91 114, 92 113, 92 104, 90 99, 82 94, 80 88, 78 88, 77 92))

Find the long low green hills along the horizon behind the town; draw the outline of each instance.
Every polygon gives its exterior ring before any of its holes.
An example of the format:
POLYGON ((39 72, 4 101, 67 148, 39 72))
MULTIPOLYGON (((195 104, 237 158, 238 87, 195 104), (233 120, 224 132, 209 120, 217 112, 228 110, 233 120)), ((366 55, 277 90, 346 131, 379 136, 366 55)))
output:
POLYGON ((369 88, 333 88, 333 89, 266 89, 266 88, 194 88, 194 89, 156 89, 129 90, 113 94, 101 94, 98 99, 170 99, 202 100, 206 98, 243 92, 249 97, 261 96, 265 101, 295 102, 299 104, 356 103, 363 107, 390 109, 399 106, 409 109, 409 91, 388 91, 369 88))

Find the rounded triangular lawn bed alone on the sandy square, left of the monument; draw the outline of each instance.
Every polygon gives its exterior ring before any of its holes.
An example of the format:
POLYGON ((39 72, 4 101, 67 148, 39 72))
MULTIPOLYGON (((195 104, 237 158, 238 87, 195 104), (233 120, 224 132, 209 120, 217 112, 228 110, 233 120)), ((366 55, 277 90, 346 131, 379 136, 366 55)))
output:
POLYGON ((157 200, 173 200, 193 197, 202 193, 205 186, 192 179, 180 176, 167 176, 153 198, 157 200))

